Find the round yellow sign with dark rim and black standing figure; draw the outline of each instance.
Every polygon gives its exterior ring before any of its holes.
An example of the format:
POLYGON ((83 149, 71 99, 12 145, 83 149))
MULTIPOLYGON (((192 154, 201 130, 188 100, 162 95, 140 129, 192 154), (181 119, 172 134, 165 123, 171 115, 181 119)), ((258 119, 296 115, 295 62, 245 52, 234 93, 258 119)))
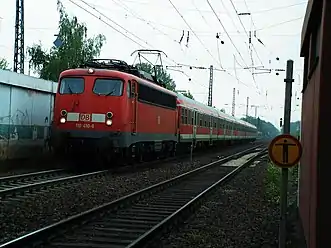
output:
POLYGON ((282 168, 295 166, 301 158, 302 146, 300 141, 289 134, 274 138, 269 144, 270 160, 282 168))

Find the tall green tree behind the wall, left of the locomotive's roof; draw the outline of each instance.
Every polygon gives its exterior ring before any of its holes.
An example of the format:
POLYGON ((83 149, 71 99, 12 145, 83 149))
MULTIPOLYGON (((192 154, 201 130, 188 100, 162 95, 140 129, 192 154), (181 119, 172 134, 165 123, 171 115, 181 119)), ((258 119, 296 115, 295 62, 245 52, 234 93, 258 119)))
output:
POLYGON ((60 0, 57 7, 60 14, 58 40, 61 46, 53 46, 50 51, 44 50, 41 44, 28 48, 31 67, 41 78, 52 81, 57 81, 62 71, 99 56, 106 40, 101 34, 87 38, 86 25, 79 23, 76 17, 69 17, 60 0))

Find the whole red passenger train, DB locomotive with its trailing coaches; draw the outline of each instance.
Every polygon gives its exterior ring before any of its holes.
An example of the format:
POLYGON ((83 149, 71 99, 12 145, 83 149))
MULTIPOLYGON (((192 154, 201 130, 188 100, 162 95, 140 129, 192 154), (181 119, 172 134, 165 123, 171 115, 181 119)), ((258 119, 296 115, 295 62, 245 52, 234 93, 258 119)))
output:
POLYGON ((50 144, 60 156, 92 154, 102 164, 137 162, 217 144, 256 140, 257 128, 116 59, 61 72, 50 144))

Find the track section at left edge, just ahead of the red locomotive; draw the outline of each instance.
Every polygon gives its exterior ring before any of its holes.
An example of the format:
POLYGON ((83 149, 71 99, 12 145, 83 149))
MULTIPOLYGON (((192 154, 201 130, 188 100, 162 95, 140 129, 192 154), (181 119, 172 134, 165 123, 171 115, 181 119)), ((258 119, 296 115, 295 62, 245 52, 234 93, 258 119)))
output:
POLYGON ((74 171, 57 169, 0 177, 0 199, 10 201, 29 196, 48 187, 95 178, 107 172, 108 170, 102 170, 77 175, 77 172, 74 171))

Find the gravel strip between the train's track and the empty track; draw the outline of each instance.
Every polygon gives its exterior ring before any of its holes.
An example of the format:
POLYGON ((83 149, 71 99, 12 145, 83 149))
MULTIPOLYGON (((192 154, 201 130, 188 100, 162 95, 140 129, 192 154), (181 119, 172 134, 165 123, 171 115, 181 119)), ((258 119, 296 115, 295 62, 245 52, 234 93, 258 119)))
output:
POLYGON ((7 204, 2 202, 0 243, 215 161, 217 155, 230 155, 248 147, 251 145, 199 156, 193 163, 188 162, 189 159, 180 163, 167 162, 143 171, 55 188, 32 198, 23 197, 7 204))

